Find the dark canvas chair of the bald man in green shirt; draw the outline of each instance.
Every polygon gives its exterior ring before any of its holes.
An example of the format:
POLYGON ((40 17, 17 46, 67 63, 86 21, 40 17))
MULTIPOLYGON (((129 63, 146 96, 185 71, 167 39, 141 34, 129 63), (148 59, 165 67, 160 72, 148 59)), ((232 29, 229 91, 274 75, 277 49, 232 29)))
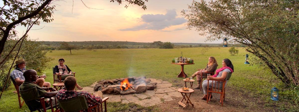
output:
MULTIPOLYGON (((22 98, 24 99, 26 105, 28 106, 30 112, 33 111, 39 111, 39 112, 47 112, 48 109, 51 109, 52 112, 60 112, 59 108, 58 108, 58 104, 55 103, 48 107, 46 107, 45 104, 45 97, 39 98, 39 100, 35 99, 34 93, 37 92, 36 87, 32 87, 29 88, 27 90, 19 90, 20 94, 22 96, 22 98), (54 111, 55 108, 55 111, 54 111)), ((51 90, 50 90, 51 91, 51 90)), ((52 102, 53 99, 50 99, 50 102, 52 102)), ((54 96, 54 100, 56 102, 55 96, 54 96)))

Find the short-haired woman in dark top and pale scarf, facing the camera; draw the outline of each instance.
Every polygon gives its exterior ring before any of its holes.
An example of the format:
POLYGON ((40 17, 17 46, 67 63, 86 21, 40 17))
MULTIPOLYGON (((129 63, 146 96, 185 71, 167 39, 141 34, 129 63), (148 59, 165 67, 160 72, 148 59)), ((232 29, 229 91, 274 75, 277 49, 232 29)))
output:
MULTIPOLYGON (((74 76, 74 75, 72 75, 72 70, 70 68, 68 68, 68 66, 66 66, 66 65, 63 64, 64 63, 64 59, 63 58, 59 59, 58 62, 59 62, 59 65, 56 65, 54 67, 54 73, 55 74, 59 74, 59 75, 62 74, 61 80, 64 80, 68 76, 74 76)), ((77 87, 78 90, 82 90, 83 89, 78 84, 76 85, 76 87, 77 87)))

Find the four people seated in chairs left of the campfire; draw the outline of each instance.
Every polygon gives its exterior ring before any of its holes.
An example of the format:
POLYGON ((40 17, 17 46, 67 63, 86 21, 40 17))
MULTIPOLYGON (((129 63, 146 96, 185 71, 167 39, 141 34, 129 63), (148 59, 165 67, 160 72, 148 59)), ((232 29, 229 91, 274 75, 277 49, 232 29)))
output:
POLYGON ((39 99, 42 97, 47 98, 47 100, 45 100, 46 107, 57 103, 55 100, 50 102, 51 98, 67 100, 79 95, 85 96, 89 106, 100 104, 102 102, 103 96, 101 91, 94 93, 94 95, 85 91, 76 91, 76 87, 79 90, 82 90, 83 88, 77 84, 76 78, 71 74, 71 70, 68 66, 63 64, 64 62, 64 59, 59 59, 59 65, 56 65, 54 68, 55 74, 62 75, 62 80, 64 80, 65 85, 61 90, 57 91, 54 88, 51 88, 50 82, 45 82, 45 76, 38 76, 37 72, 32 69, 26 70, 26 63, 28 62, 25 62, 24 59, 16 61, 16 68, 10 73, 10 76, 17 84, 22 83, 22 85, 19 86, 19 92, 26 104, 30 104, 30 106, 28 105, 30 111, 42 109, 42 105, 39 103, 39 99), (52 92, 50 92, 50 90, 52 92), (28 94, 28 91, 31 91, 30 94, 28 94))

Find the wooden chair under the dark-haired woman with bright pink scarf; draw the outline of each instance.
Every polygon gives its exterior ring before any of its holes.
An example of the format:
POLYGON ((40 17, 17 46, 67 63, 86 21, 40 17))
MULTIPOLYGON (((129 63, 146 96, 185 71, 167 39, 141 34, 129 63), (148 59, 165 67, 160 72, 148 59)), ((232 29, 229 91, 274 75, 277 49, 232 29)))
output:
POLYGON ((227 73, 225 80, 207 79, 208 85, 209 85, 209 81, 212 81, 212 86, 208 86, 207 103, 210 101, 212 93, 220 93, 220 103, 221 103, 221 106, 223 106, 223 101, 225 100, 225 84, 229 80, 229 78, 231 78, 231 72, 227 73), (222 82, 222 86, 219 85, 220 82, 222 82), (209 92, 212 92, 212 93, 209 94, 209 92))

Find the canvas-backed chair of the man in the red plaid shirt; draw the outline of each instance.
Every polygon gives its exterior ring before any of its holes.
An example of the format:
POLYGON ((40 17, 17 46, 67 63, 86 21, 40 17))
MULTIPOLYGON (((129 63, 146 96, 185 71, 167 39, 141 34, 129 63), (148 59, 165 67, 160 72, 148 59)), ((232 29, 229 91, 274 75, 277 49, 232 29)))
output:
POLYGON ((73 97, 71 99, 67 99, 67 100, 58 100, 58 103, 60 105, 60 111, 61 112, 77 112, 80 110, 86 110, 88 112, 91 112, 92 109, 94 109, 95 112, 99 112, 101 109, 101 112, 103 112, 103 102, 104 102, 104 108, 105 108, 105 112, 107 112, 107 99, 109 99, 109 97, 105 97, 104 99, 102 99, 102 103, 98 104, 98 105, 92 105, 91 107, 88 107, 86 98, 84 95, 80 95, 80 96, 76 96, 73 97))

